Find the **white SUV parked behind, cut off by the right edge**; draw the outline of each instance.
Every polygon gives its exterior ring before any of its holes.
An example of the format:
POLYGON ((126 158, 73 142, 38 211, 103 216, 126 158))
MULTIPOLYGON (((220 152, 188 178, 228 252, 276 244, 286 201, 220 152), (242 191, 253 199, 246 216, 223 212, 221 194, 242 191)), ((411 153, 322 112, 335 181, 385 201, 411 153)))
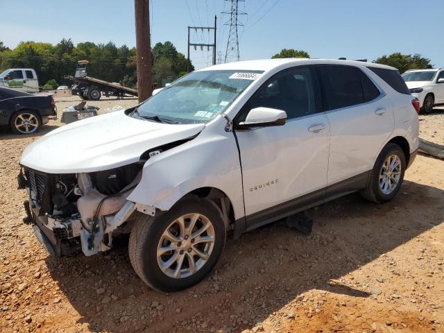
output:
POLYGON ((402 74, 421 111, 430 113, 434 105, 444 103, 444 68, 413 69, 402 74))

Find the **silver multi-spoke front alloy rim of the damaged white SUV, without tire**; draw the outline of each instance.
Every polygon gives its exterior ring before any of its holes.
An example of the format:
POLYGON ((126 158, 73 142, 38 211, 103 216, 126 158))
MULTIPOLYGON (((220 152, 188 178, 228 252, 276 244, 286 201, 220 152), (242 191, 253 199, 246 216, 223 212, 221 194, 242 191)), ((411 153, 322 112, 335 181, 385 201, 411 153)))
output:
POLYGON ((157 245, 157 264, 169 278, 187 278, 210 259, 214 226, 202 214, 180 216, 164 230, 157 245))

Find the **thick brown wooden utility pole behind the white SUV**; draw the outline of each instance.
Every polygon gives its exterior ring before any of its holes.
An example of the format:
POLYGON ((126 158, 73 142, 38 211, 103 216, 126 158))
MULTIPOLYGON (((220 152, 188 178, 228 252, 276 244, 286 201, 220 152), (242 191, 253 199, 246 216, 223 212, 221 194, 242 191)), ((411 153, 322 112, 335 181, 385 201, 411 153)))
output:
POLYGON ((153 93, 153 58, 150 41, 149 0, 134 0, 136 17, 137 96, 145 101, 153 93))

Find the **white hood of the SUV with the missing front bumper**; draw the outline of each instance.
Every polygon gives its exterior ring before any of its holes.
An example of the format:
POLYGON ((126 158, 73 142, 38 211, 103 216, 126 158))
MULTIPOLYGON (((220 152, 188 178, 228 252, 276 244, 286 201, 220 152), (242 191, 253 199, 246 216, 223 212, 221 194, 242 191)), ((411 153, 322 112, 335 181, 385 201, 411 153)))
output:
POLYGON ((111 112, 51 131, 26 147, 20 164, 46 173, 113 169, 139 161, 148 149, 197 135, 204 127, 135 119, 123 110, 111 112))

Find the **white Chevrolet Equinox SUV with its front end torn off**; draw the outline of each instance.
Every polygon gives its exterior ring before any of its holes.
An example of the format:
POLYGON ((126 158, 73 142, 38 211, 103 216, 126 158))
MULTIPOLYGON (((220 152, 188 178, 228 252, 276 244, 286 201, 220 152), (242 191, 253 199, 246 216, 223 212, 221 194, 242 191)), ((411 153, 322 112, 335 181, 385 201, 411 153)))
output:
POLYGON ((383 65, 216 65, 44 135, 24 151, 19 185, 49 252, 94 255, 130 232, 139 277, 185 289, 214 268, 228 230, 354 191, 391 200, 418 148, 417 102, 383 65))

